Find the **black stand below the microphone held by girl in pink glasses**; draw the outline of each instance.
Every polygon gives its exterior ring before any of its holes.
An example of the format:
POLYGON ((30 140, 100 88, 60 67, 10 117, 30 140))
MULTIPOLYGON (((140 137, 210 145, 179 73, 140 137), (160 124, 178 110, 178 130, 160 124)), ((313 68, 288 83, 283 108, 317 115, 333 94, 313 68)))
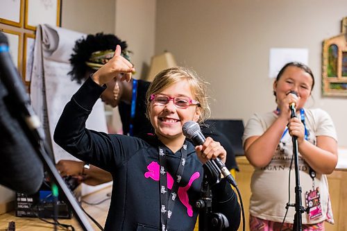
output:
POLYGON ((218 231, 228 228, 228 219, 224 214, 212 212, 212 191, 211 186, 221 181, 221 173, 213 162, 206 162, 203 165, 203 182, 201 184, 201 198, 196 201, 199 209, 198 230, 218 231))

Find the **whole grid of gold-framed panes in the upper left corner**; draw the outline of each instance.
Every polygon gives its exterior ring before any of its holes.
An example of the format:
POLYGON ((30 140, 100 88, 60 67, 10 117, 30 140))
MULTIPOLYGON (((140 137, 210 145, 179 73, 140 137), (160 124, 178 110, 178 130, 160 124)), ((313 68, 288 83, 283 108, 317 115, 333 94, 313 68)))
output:
POLYGON ((31 69, 36 26, 60 26, 60 1, 1 0, 0 31, 8 37, 10 54, 27 89, 30 89, 28 73, 31 69))

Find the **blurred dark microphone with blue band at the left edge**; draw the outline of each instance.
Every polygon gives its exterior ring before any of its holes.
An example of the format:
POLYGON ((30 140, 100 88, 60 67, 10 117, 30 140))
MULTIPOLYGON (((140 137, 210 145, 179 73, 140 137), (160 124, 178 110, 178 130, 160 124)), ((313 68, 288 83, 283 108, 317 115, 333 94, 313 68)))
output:
POLYGON ((43 129, 40 127, 40 119, 31 108, 30 99, 24 88, 22 78, 19 76, 17 68, 12 62, 8 48, 6 35, 0 32, 0 78, 8 93, 13 96, 22 110, 28 127, 35 131, 35 136, 44 137, 43 129))

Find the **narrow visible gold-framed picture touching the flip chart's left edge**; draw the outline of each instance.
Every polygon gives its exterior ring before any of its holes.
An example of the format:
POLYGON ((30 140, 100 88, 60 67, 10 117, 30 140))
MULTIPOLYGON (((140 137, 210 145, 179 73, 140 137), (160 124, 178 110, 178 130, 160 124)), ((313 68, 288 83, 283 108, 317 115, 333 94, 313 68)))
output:
POLYGON ((24 83, 31 81, 31 71, 33 69, 34 46, 35 46, 35 35, 24 33, 23 71, 22 71, 24 83))

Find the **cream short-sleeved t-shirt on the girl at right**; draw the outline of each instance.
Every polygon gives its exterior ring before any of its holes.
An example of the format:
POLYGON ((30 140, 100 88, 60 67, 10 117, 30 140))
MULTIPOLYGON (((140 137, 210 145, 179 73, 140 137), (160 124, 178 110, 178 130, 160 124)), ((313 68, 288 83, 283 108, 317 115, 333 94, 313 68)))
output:
MULTIPOLYGON (((307 129, 307 140, 316 144, 317 136, 328 136, 337 140, 335 126, 332 123, 332 119, 329 114, 321 109, 304 110, 305 111, 305 127, 307 129)), ((244 129, 244 135, 242 137, 243 142, 248 137, 262 135, 271 124, 277 119, 278 115, 274 112, 266 114, 254 114, 246 124, 244 129)), ((300 114, 297 115, 300 118, 300 114)), ((269 221, 282 222, 285 216, 285 206, 288 203, 289 195, 289 166, 291 157, 293 155, 293 142, 291 136, 285 132, 285 135, 278 144, 275 155, 271 162, 262 168, 255 168, 251 179, 251 203, 250 203, 250 214, 260 219, 269 221)), ((262 155, 261 150, 259 155, 262 155)), ((328 180, 324 174, 316 173, 314 182, 310 177, 309 171, 310 166, 303 160, 300 153, 298 155, 299 162, 299 175, 300 185, 302 188, 302 205, 307 207, 305 201, 305 193, 312 190, 313 183, 314 189, 319 187, 321 194, 321 209, 323 215, 310 220, 307 213, 303 213, 302 223, 313 224, 319 223, 329 219, 326 216, 327 212, 332 214, 330 206, 328 206, 329 191, 328 191, 328 180)), ((295 169, 294 160, 291 166, 290 174, 290 202, 295 203, 295 169)), ((289 207, 286 223, 294 222, 295 207, 289 207)), ((332 218, 332 215, 331 215, 332 218)))

